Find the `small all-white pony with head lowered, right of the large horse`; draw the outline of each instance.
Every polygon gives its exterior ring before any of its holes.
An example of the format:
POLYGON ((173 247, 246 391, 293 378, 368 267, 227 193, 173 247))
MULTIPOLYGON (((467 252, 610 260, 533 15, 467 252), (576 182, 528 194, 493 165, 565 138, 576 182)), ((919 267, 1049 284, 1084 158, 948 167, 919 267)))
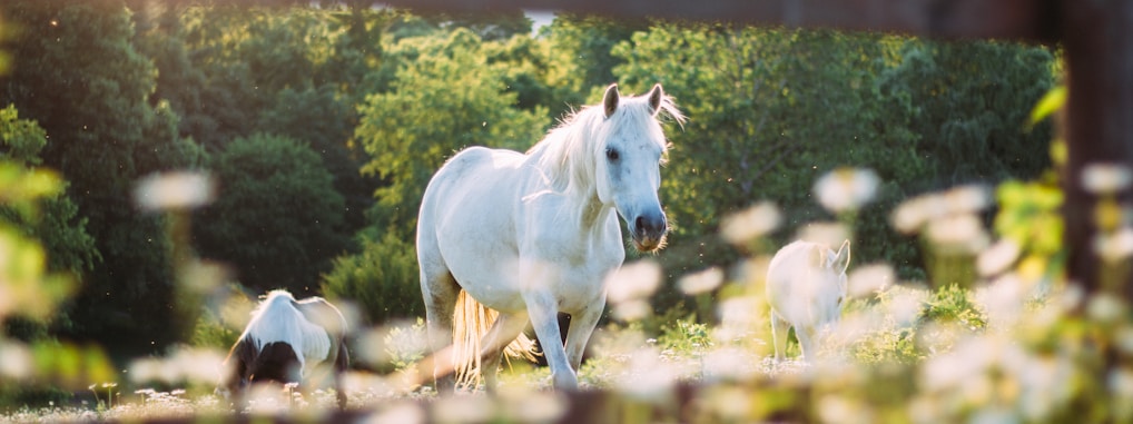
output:
POLYGON ((772 306, 776 361, 783 359, 792 327, 803 358, 815 358, 819 336, 842 314, 849 266, 850 240, 837 252, 824 244, 799 240, 775 253, 767 266, 767 302, 772 306))

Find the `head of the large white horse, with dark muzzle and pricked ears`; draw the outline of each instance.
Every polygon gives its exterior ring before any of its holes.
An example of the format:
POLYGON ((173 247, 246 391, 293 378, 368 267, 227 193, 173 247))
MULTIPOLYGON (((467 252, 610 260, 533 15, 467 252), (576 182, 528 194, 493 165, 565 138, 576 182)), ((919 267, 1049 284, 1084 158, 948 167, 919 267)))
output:
POLYGON ((614 84, 606 88, 602 103, 604 139, 595 152, 598 200, 617 210, 638 251, 656 251, 664 246, 668 231, 657 198, 666 150, 657 113, 664 110, 678 120, 683 118, 661 84, 640 97, 622 97, 614 84))

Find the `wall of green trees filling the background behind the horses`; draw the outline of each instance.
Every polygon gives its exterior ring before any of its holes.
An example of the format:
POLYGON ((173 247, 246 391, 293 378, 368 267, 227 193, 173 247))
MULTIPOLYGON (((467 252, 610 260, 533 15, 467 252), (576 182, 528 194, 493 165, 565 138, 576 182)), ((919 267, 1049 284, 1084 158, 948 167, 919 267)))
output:
MULTIPOLYGON (((689 117, 666 130, 673 232, 655 260, 668 281, 739 257, 718 230, 753 203, 790 212, 776 241, 841 219, 812 187, 845 166, 880 180, 853 217, 854 262, 922 278, 893 205, 1049 167, 1049 126, 1025 122, 1057 73, 1041 46, 571 15, 533 32, 520 12, 368 1, 14 0, 0 16, 20 28, 3 44, 5 154, 68 181, 27 229, 52 268, 78 275, 62 309, 73 324, 56 331, 127 353, 193 324, 172 317, 169 221, 130 200, 154 172, 216 179, 191 247, 240 283, 353 297, 378 321, 419 311, 411 240, 432 173, 471 145, 526 151, 611 83, 661 83, 689 117)), ((665 292, 658 309, 681 302, 665 292)))

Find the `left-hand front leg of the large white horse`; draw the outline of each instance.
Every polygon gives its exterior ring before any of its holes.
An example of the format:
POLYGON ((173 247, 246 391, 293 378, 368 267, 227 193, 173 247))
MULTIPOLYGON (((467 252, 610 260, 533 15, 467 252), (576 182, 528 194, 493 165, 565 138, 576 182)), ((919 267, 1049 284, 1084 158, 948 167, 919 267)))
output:
MULTIPOLYGON (((535 328, 535 336, 543 347, 543 356, 547 358, 551 366, 551 380, 555 389, 574 390, 578 389, 578 375, 566 359, 566 350, 563 349, 562 339, 559 332, 559 305, 555 297, 544 290, 525 294, 527 302, 527 313, 531 317, 531 327, 535 328)), ((571 327, 574 327, 573 323, 571 327)))

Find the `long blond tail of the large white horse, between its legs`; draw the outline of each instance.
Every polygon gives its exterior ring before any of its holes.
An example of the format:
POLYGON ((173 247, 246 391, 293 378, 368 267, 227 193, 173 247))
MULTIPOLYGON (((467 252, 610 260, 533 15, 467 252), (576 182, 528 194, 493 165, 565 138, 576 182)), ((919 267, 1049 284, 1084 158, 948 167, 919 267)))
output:
MULTIPOLYGON (((476 302, 468 292, 460 290, 457 296, 457 308, 452 314, 452 362, 457 384, 479 385, 482 341, 500 313, 476 302)), ((535 362, 535 341, 520 333, 504 347, 504 358, 522 357, 535 362)))

